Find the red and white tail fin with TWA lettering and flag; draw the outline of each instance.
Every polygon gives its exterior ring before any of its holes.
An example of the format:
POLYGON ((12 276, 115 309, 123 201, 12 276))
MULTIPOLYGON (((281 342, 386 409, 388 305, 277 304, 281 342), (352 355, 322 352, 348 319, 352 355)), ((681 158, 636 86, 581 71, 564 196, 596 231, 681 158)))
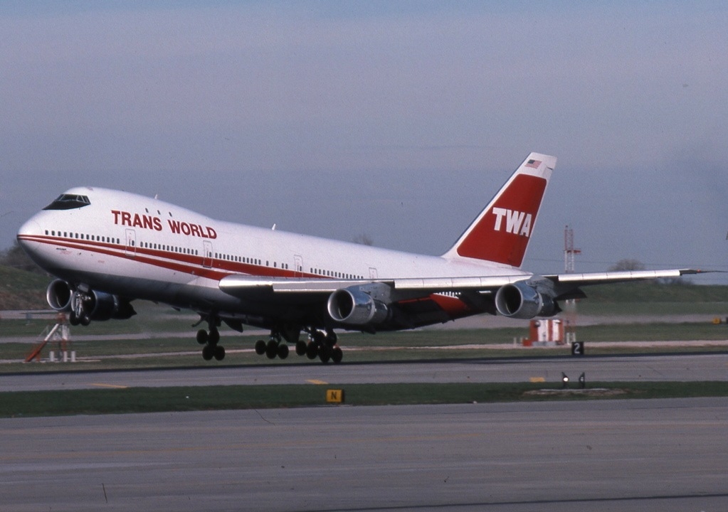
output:
POLYGON ((556 157, 531 153, 444 257, 520 267, 556 157))

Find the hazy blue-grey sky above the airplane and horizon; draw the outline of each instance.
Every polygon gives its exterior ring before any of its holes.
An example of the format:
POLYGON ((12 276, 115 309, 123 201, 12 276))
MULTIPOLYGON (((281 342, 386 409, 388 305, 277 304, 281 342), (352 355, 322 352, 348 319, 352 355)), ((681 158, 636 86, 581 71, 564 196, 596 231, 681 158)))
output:
MULTIPOLYGON (((442 254, 531 152, 523 267, 728 271, 721 1, 0 1, 0 249, 68 188, 442 254)), ((697 283, 728 284, 728 274, 697 283)))

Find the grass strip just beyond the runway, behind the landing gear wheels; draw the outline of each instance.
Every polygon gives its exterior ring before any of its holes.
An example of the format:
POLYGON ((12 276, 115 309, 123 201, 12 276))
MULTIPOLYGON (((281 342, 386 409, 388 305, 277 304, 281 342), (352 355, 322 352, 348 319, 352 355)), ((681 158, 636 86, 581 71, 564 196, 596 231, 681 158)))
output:
MULTIPOLYGON (((690 345, 676 347, 660 343, 660 340, 726 340, 728 327, 712 324, 662 324, 636 326, 594 326, 579 331, 580 339, 586 343, 587 354, 629 354, 629 353, 676 353, 727 351, 728 346, 690 345), (631 344, 607 343, 610 340, 651 340, 631 344)), ((199 345, 187 337, 155 338, 142 340, 89 340, 76 341, 71 349, 76 351, 79 362, 74 364, 47 362, 20 363, 31 350, 27 343, 3 343, 0 345, 3 362, 1 372, 59 372, 106 369, 149 369, 163 367, 210 367, 221 365, 258 364, 321 364, 309 361, 291 353, 285 361, 266 359, 253 351, 257 337, 223 337, 227 356, 224 361, 204 361, 199 345)), ((422 359, 482 359, 499 357, 542 357, 568 355, 570 347, 524 348, 513 345, 511 329, 488 329, 485 331, 416 331, 385 333, 371 336, 348 334, 340 337, 344 349, 344 362, 370 361, 412 361, 422 359)), ((47 358, 49 348, 44 351, 47 358)))

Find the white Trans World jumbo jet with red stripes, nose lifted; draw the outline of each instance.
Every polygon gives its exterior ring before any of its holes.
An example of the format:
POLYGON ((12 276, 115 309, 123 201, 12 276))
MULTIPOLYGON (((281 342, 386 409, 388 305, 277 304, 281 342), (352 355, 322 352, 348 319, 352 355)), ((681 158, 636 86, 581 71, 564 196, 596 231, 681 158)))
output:
POLYGON ((414 329, 481 313, 554 316, 590 284, 700 271, 564 273, 521 268, 554 156, 530 153, 440 256, 214 220, 134 193, 77 187, 28 220, 19 244, 55 276, 47 301, 71 324, 129 319, 133 300, 199 314, 205 360, 225 357, 218 327, 270 331, 256 353, 339 363, 336 329, 414 329), (301 340, 306 332, 308 341, 301 340))

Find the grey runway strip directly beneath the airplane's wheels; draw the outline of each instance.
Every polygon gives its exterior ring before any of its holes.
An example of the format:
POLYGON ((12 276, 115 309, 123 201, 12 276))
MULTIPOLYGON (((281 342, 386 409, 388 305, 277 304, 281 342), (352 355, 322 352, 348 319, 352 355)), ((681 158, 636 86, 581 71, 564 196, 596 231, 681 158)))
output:
POLYGON ((472 359, 374 364, 276 364, 120 372, 0 375, 0 391, 184 385, 560 382, 564 372, 596 381, 728 380, 728 353, 472 359))

